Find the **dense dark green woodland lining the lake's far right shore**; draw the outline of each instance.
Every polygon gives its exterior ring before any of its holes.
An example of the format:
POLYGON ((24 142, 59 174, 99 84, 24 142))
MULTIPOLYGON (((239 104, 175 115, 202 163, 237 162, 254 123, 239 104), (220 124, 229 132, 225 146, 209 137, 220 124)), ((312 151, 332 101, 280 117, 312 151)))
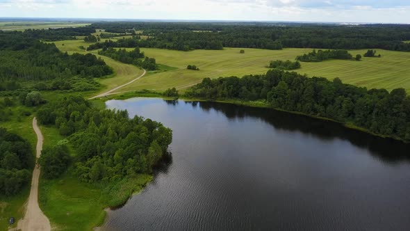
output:
POLYGON ((308 78, 295 72, 270 70, 264 75, 204 79, 190 88, 190 97, 262 100, 276 109, 368 129, 382 136, 410 141, 410 97, 402 88, 359 88, 340 79, 308 78))

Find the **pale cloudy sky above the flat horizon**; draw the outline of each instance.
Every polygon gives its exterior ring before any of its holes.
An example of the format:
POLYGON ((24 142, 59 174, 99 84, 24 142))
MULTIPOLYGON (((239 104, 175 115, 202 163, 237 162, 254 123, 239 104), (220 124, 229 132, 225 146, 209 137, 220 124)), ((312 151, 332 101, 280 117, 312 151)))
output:
POLYGON ((0 0, 0 17, 410 23, 410 0, 0 0))

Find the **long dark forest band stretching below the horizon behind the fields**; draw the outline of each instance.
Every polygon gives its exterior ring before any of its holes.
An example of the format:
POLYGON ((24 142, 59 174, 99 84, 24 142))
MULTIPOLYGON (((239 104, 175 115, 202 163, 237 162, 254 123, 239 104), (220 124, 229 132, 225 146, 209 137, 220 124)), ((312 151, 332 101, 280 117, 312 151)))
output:
MULTIPOLYGON (((292 23, 101 22, 91 25, 110 33, 142 31, 149 39, 129 47, 222 49, 282 47, 410 51, 409 25, 317 25, 292 23)), ((131 45, 131 44, 129 44, 131 45)))

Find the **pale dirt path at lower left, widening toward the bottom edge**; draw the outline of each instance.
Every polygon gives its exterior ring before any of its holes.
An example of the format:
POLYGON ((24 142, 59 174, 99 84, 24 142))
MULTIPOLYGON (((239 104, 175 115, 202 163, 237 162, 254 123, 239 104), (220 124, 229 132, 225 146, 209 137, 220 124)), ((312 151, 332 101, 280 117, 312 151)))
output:
MULTIPOLYGON (((33 129, 37 135, 37 147, 35 148, 36 157, 39 158, 42 150, 43 136, 37 125, 37 119, 33 118, 33 129)), ((40 166, 35 164, 33 179, 31 180, 30 196, 26 207, 24 218, 17 223, 17 230, 30 231, 49 231, 51 225, 49 218, 43 214, 38 206, 38 178, 40 177, 40 166)))

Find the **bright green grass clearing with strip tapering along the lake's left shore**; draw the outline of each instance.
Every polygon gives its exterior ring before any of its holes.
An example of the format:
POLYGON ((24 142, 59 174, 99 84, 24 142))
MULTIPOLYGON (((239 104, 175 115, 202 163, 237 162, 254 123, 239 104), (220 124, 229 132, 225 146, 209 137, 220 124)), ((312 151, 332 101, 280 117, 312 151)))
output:
POLYGON ((151 179, 137 175, 108 186, 94 185, 79 182, 70 169, 56 180, 42 178, 40 207, 56 230, 92 230, 104 223, 106 207, 123 205, 151 179))

